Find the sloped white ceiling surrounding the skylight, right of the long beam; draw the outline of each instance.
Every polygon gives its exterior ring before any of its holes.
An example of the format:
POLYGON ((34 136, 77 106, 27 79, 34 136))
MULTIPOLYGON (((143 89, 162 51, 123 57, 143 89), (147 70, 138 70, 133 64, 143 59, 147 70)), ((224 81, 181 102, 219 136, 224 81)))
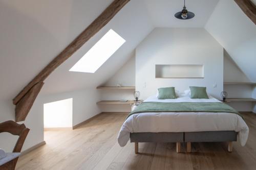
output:
POLYGON ((142 1, 131 1, 84 44, 70 59, 59 66, 45 81, 42 94, 71 91, 86 87, 96 87, 108 81, 115 72, 135 55, 135 48, 154 27, 148 18, 142 1), (94 74, 72 72, 69 69, 110 29, 118 33, 126 42, 94 74), (53 88, 53 86, 55 88, 53 88))

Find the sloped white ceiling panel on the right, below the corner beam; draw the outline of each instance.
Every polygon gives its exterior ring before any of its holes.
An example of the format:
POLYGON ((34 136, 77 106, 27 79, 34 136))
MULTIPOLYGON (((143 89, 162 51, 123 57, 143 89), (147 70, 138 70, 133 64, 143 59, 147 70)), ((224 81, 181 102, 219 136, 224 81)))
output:
POLYGON ((234 1, 220 0, 205 29, 225 48, 252 82, 256 82, 256 26, 234 1))

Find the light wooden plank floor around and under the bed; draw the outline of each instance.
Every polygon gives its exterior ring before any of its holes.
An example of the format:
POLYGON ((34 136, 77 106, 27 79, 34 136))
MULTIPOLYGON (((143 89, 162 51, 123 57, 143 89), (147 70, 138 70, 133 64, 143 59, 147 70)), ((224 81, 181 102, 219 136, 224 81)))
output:
POLYGON ((250 129, 245 147, 233 143, 192 143, 192 153, 176 153, 176 143, 134 143, 124 148, 117 134, 126 115, 100 114, 76 130, 46 131, 46 145, 19 158, 17 169, 256 169, 256 114, 243 113, 250 129))

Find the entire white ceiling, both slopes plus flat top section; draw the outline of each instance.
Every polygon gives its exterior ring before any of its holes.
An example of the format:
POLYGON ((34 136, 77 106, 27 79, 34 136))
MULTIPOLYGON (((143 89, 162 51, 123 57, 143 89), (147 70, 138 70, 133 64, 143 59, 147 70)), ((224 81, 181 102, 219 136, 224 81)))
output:
MULTIPOLYGON (((0 1, 0 94, 11 100, 113 0, 0 1)), ((179 20, 181 0, 131 0, 102 30, 46 80, 41 94, 96 87, 134 56, 155 27, 204 27, 251 81, 256 81, 255 26, 232 0, 187 0, 196 16, 179 20), (217 5, 218 4, 218 5, 217 5), (227 11, 228 10, 228 11, 227 11), (214 12, 213 12, 214 11, 214 12), (110 29, 126 42, 95 74, 69 69, 110 29)))

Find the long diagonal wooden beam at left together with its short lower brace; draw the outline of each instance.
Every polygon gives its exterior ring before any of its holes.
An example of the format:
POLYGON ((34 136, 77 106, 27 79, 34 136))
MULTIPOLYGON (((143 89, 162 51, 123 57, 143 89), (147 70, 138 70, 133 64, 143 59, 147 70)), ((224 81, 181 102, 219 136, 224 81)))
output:
POLYGON ((102 29, 130 0, 114 0, 78 37, 76 37, 57 57, 13 99, 16 122, 25 120, 38 95, 44 80, 63 62, 71 57, 84 43, 102 29))

